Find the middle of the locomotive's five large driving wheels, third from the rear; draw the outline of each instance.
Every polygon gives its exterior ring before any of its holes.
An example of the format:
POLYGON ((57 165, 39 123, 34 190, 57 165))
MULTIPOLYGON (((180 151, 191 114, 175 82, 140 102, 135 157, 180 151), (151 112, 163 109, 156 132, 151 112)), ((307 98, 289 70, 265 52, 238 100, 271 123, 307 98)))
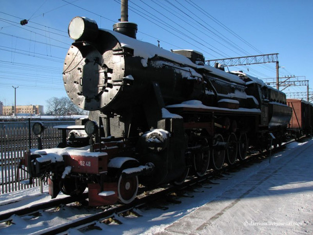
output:
POLYGON ((224 139, 221 134, 214 136, 213 151, 212 151, 212 167, 215 170, 222 168, 225 159, 225 147, 223 146, 224 139))

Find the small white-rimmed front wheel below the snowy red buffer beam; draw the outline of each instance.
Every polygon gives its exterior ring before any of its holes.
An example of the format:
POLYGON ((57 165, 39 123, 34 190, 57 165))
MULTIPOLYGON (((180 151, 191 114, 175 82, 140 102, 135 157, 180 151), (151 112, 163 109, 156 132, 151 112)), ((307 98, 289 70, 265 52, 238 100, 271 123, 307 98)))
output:
POLYGON ((138 192, 138 177, 122 177, 120 175, 118 182, 119 201, 124 204, 131 203, 138 192))

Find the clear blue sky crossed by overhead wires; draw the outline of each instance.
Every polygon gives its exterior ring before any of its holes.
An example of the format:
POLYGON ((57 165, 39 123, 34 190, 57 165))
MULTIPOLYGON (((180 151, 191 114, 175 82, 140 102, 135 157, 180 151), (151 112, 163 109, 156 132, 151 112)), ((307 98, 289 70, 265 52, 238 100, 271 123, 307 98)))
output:
MULTIPOLYGON (((46 106, 66 96, 62 69, 72 40, 67 27, 86 16, 112 29, 120 18, 119 0, 0 0, 0 101, 46 106), (29 20, 25 26, 19 22, 29 20)), ((164 49, 195 49, 206 59, 279 53, 280 77, 300 76, 312 85, 311 0, 129 0, 129 21, 137 39, 164 49), (303 76, 303 77, 302 77, 303 76)), ((275 63, 229 67, 258 78, 275 78, 275 63)), ((274 81, 274 80, 267 80, 274 81)), ((313 90, 310 88, 309 90, 313 90)), ((284 92, 306 92, 305 86, 284 92)))

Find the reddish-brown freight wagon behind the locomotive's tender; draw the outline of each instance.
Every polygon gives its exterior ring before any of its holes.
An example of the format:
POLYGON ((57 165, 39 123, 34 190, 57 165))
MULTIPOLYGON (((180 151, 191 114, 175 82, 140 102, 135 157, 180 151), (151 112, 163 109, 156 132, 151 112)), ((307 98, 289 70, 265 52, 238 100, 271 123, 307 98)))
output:
POLYGON ((287 105, 292 108, 292 117, 288 128, 299 137, 312 134, 313 104, 300 99, 287 99, 287 105))

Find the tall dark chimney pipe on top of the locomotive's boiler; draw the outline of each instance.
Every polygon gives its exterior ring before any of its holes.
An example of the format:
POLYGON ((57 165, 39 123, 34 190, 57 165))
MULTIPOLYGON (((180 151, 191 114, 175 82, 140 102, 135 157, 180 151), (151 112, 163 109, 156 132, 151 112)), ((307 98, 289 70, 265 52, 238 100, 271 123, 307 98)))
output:
POLYGON ((136 38, 137 25, 128 22, 128 0, 121 0, 121 22, 114 24, 113 30, 133 39, 136 38))

